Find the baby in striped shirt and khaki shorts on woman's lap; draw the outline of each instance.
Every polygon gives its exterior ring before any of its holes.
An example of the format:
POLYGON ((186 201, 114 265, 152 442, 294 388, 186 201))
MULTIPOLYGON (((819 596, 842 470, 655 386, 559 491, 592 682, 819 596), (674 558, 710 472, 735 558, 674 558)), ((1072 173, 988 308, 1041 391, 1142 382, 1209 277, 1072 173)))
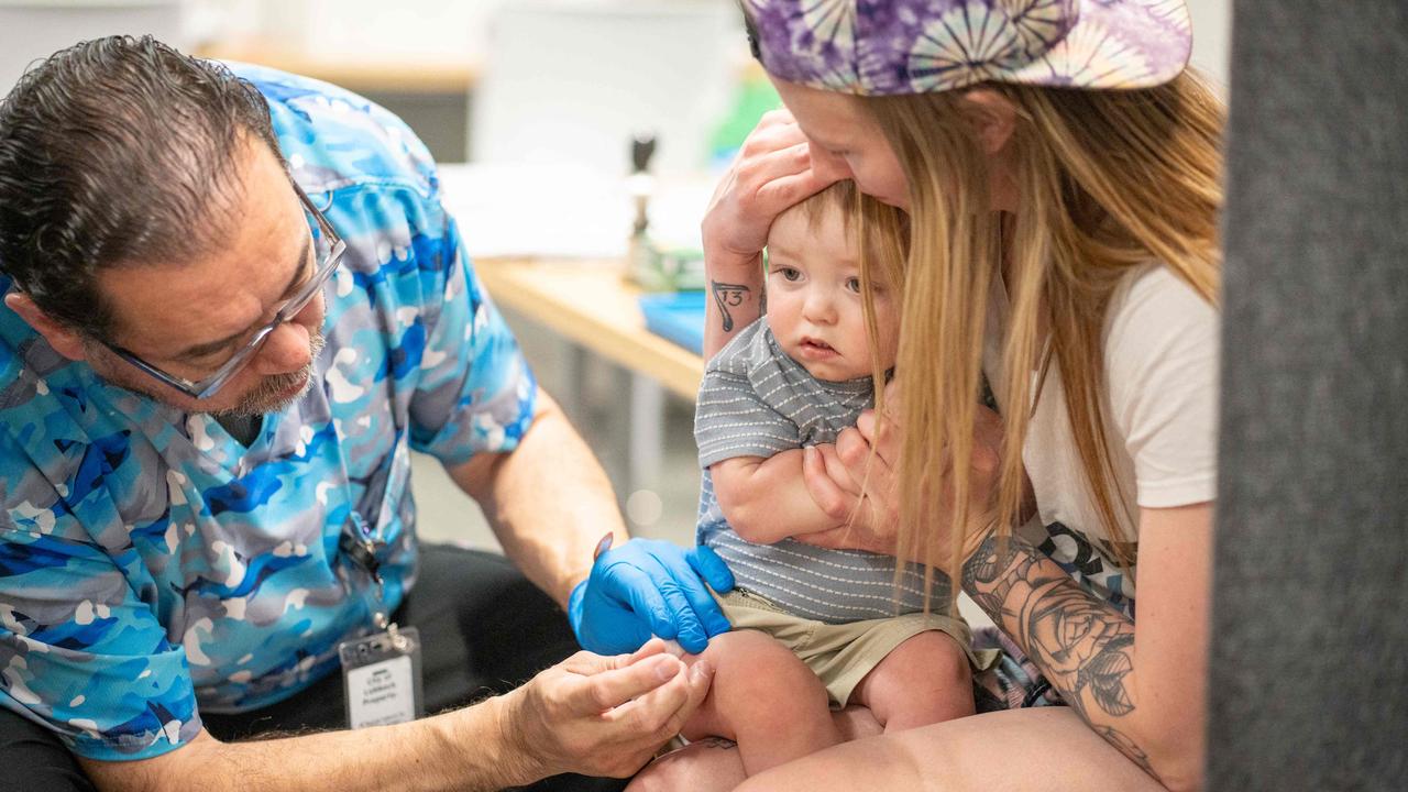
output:
POLYGON ((907 565, 895 588, 893 557, 791 538, 836 527, 807 492, 803 448, 855 426, 874 404, 872 373, 894 366, 905 245, 903 214, 850 182, 788 209, 767 237, 765 317, 700 386, 698 541, 738 588, 718 596, 735 630, 704 652, 714 686, 684 736, 736 741, 749 775, 839 743, 829 707, 865 705, 887 731, 973 713, 976 660, 946 585, 925 613, 922 569, 907 565))

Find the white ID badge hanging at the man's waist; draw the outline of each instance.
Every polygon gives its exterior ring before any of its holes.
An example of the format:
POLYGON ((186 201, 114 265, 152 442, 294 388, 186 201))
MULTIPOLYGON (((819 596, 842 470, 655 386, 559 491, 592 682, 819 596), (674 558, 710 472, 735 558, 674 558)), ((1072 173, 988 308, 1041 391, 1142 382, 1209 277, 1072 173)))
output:
POLYGON ((421 695, 421 634, 396 624, 338 644, 348 727, 390 726, 425 714, 421 695))

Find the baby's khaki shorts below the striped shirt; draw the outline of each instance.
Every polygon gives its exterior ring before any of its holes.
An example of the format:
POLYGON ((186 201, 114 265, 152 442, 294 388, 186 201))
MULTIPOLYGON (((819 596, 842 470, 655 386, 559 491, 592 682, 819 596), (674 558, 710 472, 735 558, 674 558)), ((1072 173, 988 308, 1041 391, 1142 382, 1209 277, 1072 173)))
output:
POLYGON ((974 671, 984 671, 997 660, 997 652, 990 650, 974 652, 967 623, 953 616, 905 613, 891 619, 828 624, 787 613, 742 589, 714 593, 714 599, 735 630, 759 630, 791 650, 826 686, 826 696, 835 707, 846 706, 866 674, 919 633, 938 630, 952 637, 963 647, 974 671))

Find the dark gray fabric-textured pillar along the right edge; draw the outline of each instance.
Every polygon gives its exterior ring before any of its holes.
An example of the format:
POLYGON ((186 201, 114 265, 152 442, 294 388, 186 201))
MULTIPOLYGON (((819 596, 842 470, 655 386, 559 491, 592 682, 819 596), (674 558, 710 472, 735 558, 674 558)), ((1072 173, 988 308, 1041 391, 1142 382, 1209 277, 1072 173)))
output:
POLYGON ((1408 788, 1408 3, 1236 0, 1211 789, 1408 788))

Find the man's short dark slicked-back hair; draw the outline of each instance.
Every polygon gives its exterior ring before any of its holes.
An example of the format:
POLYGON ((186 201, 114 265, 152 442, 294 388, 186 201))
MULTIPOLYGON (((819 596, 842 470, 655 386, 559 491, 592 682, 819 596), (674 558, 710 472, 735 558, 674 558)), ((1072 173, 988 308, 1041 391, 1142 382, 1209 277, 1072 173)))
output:
POLYGON ((263 97, 220 63, 151 37, 55 54, 0 100, 0 271, 49 317, 106 337, 97 272, 208 252, 245 140, 279 152, 263 97))

